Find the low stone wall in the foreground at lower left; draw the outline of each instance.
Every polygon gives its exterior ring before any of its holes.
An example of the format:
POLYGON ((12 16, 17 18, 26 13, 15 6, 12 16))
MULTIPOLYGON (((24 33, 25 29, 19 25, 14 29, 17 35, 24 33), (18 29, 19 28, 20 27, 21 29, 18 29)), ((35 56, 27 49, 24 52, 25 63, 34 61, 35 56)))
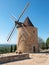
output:
POLYGON ((18 60, 23 60, 28 58, 29 58, 29 54, 10 55, 5 57, 0 57, 0 63, 18 61, 18 60))

